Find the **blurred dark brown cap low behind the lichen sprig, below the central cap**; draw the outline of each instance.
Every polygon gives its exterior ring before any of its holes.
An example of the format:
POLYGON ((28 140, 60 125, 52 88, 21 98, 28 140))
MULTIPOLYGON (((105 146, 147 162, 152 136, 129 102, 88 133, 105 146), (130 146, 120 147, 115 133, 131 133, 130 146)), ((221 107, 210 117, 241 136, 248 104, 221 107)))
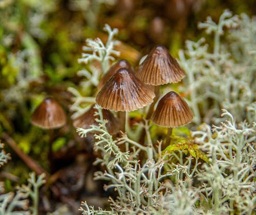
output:
MULTIPOLYGON (((95 104, 91 106, 91 108, 81 116, 77 117, 73 121, 74 127, 82 127, 84 129, 90 128, 90 125, 98 125, 98 123, 95 121, 95 118, 99 118, 99 116, 94 116, 95 112, 97 111, 94 108, 95 104)), ((106 123, 106 129, 108 132, 113 135, 119 132, 120 125, 119 120, 117 117, 115 117, 109 110, 102 110, 103 118, 108 120, 108 123, 106 123)))

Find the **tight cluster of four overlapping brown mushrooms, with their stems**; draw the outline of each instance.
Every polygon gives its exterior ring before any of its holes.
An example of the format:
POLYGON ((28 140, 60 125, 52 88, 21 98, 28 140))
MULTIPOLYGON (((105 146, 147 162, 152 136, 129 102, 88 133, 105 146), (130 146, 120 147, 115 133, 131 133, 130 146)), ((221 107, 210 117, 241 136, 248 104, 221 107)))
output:
MULTIPOLYGON (((155 112, 154 107, 160 97, 160 85, 179 82, 183 77, 185 72, 175 58, 165 47, 158 45, 151 50, 134 74, 129 62, 125 60, 113 65, 100 81, 96 103, 103 109, 119 113, 123 132, 125 112, 151 104, 146 119, 152 118, 155 124, 169 127, 166 138, 166 143, 169 144, 172 128, 189 123, 193 119, 193 113, 185 100, 175 92, 163 96, 155 112), (154 92, 150 90, 152 88, 154 92)), ((144 135, 142 133, 143 142, 144 135)))

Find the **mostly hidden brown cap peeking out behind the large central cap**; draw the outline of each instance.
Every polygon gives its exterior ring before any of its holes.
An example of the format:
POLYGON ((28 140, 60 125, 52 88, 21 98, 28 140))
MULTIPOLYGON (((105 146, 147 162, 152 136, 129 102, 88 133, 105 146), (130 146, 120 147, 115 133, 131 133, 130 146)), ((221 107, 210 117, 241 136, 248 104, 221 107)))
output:
POLYGON ((121 68, 126 68, 129 71, 132 71, 132 67, 127 60, 119 60, 113 66, 110 67, 109 71, 101 78, 98 88, 99 90, 103 85, 111 78, 112 75, 116 73, 117 70, 121 68))

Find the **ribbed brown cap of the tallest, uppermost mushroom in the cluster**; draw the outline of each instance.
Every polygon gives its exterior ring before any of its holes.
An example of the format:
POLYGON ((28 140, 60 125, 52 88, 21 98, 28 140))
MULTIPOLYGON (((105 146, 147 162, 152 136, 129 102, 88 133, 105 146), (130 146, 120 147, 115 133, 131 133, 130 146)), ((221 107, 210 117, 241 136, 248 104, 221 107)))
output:
POLYGON ((179 82, 185 72, 163 46, 154 47, 135 73, 143 83, 162 85, 179 82))

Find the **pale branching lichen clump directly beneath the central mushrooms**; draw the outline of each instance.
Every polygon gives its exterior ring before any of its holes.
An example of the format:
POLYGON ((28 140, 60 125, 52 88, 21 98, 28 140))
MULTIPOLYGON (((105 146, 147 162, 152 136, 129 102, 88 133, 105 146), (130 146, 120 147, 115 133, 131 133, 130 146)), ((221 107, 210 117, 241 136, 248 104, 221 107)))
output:
MULTIPOLYGON (((96 133, 94 149, 101 154, 101 158, 97 158, 95 164, 105 166, 106 171, 95 173, 95 179, 110 181, 105 189, 115 188, 117 191, 118 199, 110 199, 113 205, 112 212, 125 213, 125 210, 127 213, 132 213, 132 211, 135 213, 148 212, 151 207, 157 207, 155 203, 161 197, 160 191, 165 189, 161 182, 169 176, 169 173, 160 174, 164 164, 161 154, 157 158, 159 154, 152 152, 152 146, 140 145, 127 138, 125 134, 120 139, 113 140, 106 130, 106 120, 103 119, 102 108, 96 105, 96 109, 98 112, 95 115, 99 116, 99 119, 95 120, 99 125, 92 125, 88 129, 78 128, 77 131, 82 137, 91 132, 96 133), (122 152, 119 148, 120 145, 131 148, 131 151, 122 152), (148 158, 144 164, 140 164, 138 161, 141 151, 148 158)), ((148 128, 146 132, 149 133, 148 128)), ((93 210, 89 206, 86 208, 93 210)))

